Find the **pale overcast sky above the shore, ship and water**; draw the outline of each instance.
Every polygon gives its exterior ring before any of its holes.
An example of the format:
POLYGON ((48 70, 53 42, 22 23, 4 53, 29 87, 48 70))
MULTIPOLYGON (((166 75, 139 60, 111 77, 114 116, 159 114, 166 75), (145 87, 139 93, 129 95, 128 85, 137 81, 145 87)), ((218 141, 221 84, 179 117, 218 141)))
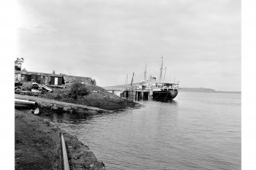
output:
POLYGON ((241 91, 240 0, 18 1, 18 56, 35 72, 100 86, 159 76, 181 87, 241 91))

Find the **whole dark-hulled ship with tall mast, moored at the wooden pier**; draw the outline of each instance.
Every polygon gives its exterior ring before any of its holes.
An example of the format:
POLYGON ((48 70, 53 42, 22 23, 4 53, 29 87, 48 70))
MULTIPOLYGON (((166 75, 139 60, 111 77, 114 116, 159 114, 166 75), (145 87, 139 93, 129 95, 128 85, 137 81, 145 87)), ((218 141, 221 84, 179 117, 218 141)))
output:
MULTIPOLYGON (((153 91, 152 98, 153 100, 157 100, 157 101, 171 101, 173 100, 173 98, 176 98, 178 95, 180 82, 175 82, 175 80, 174 82, 162 82, 163 71, 165 70, 165 73, 166 73, 167 68, 165 67, 163 69, 163 66, 164 66, 163 56, 161 58, 162 58, 162 63, 160 67, 159 81, 155 82, 151 86, 151 89, 153 91)), ((165 79, 165 73, 164 73, 164 79, 165 79)))

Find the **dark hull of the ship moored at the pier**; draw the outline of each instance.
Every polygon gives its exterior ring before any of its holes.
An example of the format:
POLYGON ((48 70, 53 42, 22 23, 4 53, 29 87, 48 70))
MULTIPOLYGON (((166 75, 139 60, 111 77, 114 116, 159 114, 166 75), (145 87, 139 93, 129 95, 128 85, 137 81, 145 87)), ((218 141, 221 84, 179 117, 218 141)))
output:
POLYGON ((176 90, 168 90, 168 91, 153 91, 153 99, 160 101, 170 101, 173 100, 178 95, 178 91, 176 90))

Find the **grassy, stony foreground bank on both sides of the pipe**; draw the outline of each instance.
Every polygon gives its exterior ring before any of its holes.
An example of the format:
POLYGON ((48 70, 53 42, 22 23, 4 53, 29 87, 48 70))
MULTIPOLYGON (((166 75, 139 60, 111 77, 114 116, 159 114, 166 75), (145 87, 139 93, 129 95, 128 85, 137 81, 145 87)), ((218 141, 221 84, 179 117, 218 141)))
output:
POLYGON ((15 169, 61 169, 60 132, 64 133, 70 169, 105 169, 89 147, 49 120, 15 110, 15 169))

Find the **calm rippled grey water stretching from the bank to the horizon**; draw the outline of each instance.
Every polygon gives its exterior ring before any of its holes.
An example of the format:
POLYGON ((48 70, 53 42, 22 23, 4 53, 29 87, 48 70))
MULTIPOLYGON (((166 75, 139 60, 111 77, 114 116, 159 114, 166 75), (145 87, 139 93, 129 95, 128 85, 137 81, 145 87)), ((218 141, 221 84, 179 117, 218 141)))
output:
POLYGON ((241 169, 241 95, 180 92, 170 103, 53 121, 107 169, 241 169))

